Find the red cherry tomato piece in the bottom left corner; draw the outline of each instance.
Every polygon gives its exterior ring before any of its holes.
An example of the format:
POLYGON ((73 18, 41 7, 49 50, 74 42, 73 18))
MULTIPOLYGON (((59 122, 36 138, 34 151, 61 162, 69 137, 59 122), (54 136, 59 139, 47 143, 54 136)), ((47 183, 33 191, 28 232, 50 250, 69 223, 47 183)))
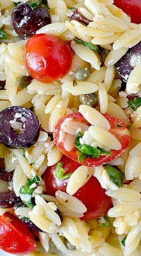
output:
POLYGON ((29 254, 36 249, 32 233, 11 213, 0 216, 0 248, 17 255, 29 254))

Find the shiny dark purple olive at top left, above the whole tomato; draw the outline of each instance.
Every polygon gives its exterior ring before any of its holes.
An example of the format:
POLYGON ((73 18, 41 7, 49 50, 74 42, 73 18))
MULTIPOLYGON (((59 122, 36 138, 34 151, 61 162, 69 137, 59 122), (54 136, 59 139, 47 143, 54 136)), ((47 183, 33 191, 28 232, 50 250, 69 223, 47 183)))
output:
POLYGON ((23 39, 32 37, 38 29, 50 23, 50 13, 41 5, 32 8, 29 2, 25 2, 17 5, 12 13, 13 28, 23 39))

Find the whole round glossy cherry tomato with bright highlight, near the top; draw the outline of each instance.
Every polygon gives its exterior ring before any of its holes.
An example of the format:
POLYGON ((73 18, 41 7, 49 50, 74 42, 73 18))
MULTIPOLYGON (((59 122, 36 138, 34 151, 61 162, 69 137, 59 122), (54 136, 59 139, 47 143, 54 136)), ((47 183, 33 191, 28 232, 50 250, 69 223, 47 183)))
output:
POLYGON ((54 35, 38 34, 24 47, 24 64, 34 79, 50 83, 61 79, 72 65, 68 44, 54 35))

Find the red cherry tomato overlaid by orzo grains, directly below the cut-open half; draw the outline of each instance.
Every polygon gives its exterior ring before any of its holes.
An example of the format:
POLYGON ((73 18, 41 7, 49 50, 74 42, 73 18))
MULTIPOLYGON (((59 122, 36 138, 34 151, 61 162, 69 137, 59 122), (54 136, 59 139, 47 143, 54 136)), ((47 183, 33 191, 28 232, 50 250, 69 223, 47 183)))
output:
MULTIPOLYGON (((59 162, 63 162, 63 168, 65 174, 73 173, 80 165, 74 162, 67 156, 63 156, 59 162)), ((66 192, 66 186, 69 179, 59 180, 57 179, 56 166, 54 164, 51 167, 47 167, 44 173, 45 187, 48 195, 55 195, 57 190, 66 192)), ((111 198, 105 194, 105 189, 100 186, 99 181, 95 177, 90 177, 87 183, 82 186, 73 196, 78 198, 87 207, 87 212, 81 219, 88 221, 90 219, 96 219, 100 216, 106 215, 110 207, 112 206, 111 198)))

